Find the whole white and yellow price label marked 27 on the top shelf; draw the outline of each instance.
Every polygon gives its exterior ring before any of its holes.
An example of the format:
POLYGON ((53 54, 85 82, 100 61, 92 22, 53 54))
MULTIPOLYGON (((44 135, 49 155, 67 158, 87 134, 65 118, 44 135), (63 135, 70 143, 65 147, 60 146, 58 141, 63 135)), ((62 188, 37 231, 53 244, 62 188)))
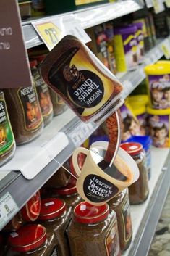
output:
POLYGON ((66 35, 76 36, 84 43, 91 41, 74 15, 65 15, 64 17, 50 18, 50 20, 32 22, 32 25, 49 51, 66 35))

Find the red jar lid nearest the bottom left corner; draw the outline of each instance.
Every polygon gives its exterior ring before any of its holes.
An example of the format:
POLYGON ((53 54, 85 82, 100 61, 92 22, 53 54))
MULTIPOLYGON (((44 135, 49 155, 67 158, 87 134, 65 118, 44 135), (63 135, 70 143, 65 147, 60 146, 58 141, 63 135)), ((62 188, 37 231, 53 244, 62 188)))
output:
POLYGON ((41 225, 23 226, 17 232, 12 232, 8 244, 14 251, 29 252, 41 247, 46 241, 46 228, 41 225))

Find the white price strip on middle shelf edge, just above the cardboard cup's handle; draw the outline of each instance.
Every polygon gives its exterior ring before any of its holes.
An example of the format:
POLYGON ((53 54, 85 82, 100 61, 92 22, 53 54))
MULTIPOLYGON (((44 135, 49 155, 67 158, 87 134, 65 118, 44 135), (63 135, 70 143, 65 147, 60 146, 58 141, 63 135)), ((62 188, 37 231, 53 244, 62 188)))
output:
POLYGON ((88 138, 93 131, 93 125, 91 123, 82 123, 80 126, 75 128, 75 130, 69 136, 75 146, 80 146, 85 141, 85 138, 88 138))

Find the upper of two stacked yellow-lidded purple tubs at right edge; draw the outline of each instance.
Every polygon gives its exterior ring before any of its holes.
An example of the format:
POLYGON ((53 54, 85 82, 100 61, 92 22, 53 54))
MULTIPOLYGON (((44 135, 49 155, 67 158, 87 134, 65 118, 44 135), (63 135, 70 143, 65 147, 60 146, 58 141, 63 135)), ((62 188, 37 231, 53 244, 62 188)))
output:
POLYGON ((160 62, 144 68, 147 75, 150 107, 163 110, 170 107, 170 65, 160 62))

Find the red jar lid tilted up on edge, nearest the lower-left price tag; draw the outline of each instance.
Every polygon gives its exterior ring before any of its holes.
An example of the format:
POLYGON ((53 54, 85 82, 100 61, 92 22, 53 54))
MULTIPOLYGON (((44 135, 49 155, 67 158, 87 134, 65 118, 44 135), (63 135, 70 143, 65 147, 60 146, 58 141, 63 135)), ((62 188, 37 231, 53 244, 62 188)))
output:
POLYGON ((38 191, 28 202, 22 207, 21 213, 22 217, 26 221, 37 220, 41 210, 41 197, 38 191))

